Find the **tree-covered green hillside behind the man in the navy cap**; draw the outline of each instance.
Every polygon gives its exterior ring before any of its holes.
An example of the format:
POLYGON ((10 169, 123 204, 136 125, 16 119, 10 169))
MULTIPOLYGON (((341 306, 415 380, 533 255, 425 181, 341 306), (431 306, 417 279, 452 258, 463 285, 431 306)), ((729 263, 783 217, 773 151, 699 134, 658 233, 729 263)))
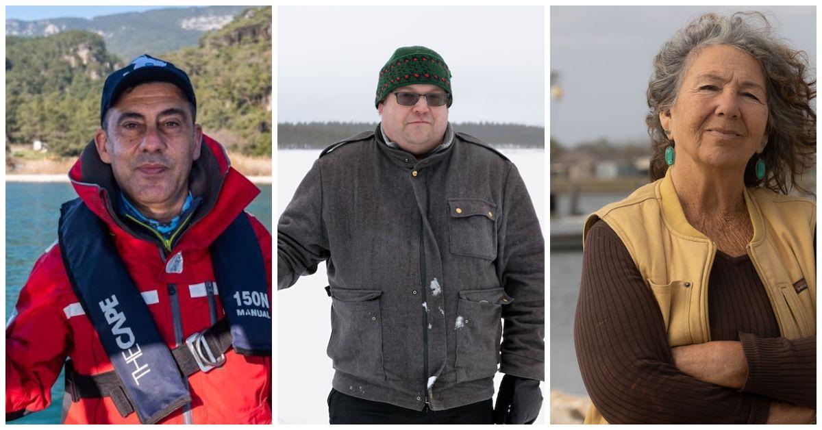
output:
MULTIPOLYGON (((196 48, 164 55, 192 77, 198 123, 224 145, 270 155, 271 8, 249 9, 196 48)), ((44 141, 49 153, 79 155, 99 126, 105 76, 122 63, 85 31, 6 39, 6 136, 44 141)))

